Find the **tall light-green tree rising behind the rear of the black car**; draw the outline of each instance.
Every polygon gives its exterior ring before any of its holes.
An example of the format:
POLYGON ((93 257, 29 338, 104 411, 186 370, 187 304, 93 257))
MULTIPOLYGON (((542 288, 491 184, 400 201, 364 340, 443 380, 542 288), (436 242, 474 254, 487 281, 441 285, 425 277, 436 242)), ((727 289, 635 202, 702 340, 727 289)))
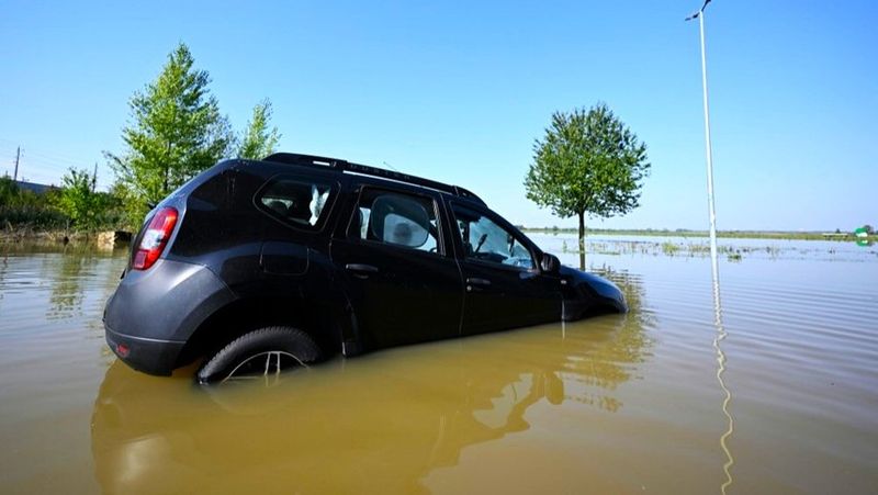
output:
POLYGON ((139 225, 149 209, 200 171, 229 154, 234 136, 210 94, 205 70, 180 43, 158 78, 130 101, 122 130, 127 149, 105 153, 126 199, 127 221, 139 225))

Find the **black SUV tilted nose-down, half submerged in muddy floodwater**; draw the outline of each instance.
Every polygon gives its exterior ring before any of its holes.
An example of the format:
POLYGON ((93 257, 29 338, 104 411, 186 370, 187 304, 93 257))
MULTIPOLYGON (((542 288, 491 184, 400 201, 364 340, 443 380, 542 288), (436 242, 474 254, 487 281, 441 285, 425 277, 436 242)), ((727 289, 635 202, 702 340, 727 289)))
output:
POLYGON ((626 310, 463 188, 281 153, 222 161, 157 205, 104 326, 132 368, 205 357, 206 383, 626 310))

